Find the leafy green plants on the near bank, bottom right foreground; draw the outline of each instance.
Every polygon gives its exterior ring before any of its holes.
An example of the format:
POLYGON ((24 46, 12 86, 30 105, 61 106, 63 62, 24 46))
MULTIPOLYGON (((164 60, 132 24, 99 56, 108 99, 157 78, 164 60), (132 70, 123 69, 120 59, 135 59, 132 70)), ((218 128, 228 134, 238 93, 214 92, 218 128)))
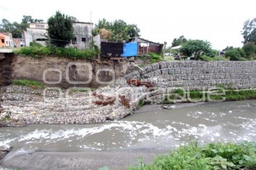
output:
MULTIPOLYGON (((140 160, 141 161, 141 160, 140 160)), ((157 156, 151 163, 138 162, 129 170, 212 170, 256 168, 256 143, 210 143, 198 147, 194 142, 176 151, 157 156), (142 163, 142 164, 141 164, 142 163)))

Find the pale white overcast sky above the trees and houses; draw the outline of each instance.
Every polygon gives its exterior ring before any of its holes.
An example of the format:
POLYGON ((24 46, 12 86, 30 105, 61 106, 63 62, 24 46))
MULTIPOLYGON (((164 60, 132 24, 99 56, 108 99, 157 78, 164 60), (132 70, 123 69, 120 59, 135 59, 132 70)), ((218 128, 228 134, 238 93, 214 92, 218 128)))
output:
POLYGON ((141 37, 171 45, 173 38, 184 35, 187 39, 210 41, 212 47, 241 47, 243 22, 256 17, 255 0, 129 0, 129 1, 57 1, 22 0, 1 1, 0 19, 21 22, 23 15, 43 19, 56 10, 74 16, 79 21, 97 23, 122 19, 137 24, 141 37), (39 2, 39 3, 38 3, 39 2))

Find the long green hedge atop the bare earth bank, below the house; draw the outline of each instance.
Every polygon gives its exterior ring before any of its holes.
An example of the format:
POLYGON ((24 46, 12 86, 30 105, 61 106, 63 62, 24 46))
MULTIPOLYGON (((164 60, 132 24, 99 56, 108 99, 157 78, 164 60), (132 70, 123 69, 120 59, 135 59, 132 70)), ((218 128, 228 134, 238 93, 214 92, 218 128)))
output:
POLYGON ((21 47, 14 53, 22 56, 40 58, 42 56, 58 56, 69 59, 91 59, 98 55, 96 49, 77 50, 75 48, 62 47, 21 47))

